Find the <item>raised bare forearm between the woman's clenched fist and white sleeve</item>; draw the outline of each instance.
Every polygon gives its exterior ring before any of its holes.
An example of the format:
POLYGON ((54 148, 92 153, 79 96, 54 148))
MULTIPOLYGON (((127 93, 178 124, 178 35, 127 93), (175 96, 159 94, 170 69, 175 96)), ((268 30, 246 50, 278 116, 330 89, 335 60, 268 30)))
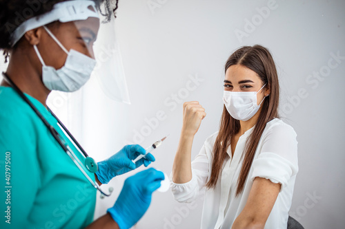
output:
POLYGON ((191 153, 194 135, 181 131, 179 146, 172 166, 172 182, 183 184, 192 179, 191 153))

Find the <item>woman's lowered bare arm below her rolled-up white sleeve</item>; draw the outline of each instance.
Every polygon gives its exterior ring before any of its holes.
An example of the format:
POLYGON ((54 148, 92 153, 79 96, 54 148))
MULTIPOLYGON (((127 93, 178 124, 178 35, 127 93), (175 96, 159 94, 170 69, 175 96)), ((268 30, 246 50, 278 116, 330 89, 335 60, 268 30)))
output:
POLYGON ((281 184, 269 179, 255 177, 250 189, 246 206, 233 224, 233 228, 264 228, 268 216, 275 204, 281 184))

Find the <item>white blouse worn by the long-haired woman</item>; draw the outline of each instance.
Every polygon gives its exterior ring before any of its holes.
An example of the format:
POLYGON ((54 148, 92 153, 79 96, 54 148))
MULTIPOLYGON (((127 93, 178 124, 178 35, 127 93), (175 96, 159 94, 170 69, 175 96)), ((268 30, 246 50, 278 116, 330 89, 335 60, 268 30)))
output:
POLYGON ((242 212, 255 177, 264 177, 271 182, 282 184, 275 205, 266 221, 265 229, 286 229, 288 210, 290 210, 298 172, 297 140, 293 127, 275 118, 266 124, 259 140, 253 164, 248 173, 244 190, 235 197, 237 179, 242 168, 242 154, 247 138, 254 127, 246 131, 238 140, 233 158, 231 147, 226 151, 221 174, 215 188, 205 188, 213 161, 213 145, 217 133, 207 138, 200 153, 192 162, 192 179, 185 184, 170 182, 172 193, 179 202, 191 202, 199 193, 204 193, 204 208, 201 217, 201 229, 226 228, 233 225, 242 212), (203 190, 201 192, 201 190, 203 190))

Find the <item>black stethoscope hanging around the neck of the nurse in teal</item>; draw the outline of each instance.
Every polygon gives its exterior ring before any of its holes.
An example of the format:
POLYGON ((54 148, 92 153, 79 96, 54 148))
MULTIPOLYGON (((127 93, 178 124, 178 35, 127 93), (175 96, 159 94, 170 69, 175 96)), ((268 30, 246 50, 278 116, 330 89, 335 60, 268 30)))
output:
MULTIPOLYGON (((84 171, 83 166, 81 166, 81 161, 79 160, 79 158, 75 155, 75 153, 73 153, 72 149, 70 149, 70 146, 68 146, 68 144, 66 143, 65 140, 63 140, 63 138, 61 137, 61 135, 57 132, 57 130, 52 127, 51 124, 49 124, 49 122, 41 115, 41 113, 39 113, 39 111, 37 110, 36 107, 34 107, 34 105, 32 104, 32 102, 30 102, 30 100, 23 94, 23 91, 21 91, 19 89, 19 87, 17 87, 17 85, 14 84, 14 82, 10 79, 10 77, 8 76, 8 74, 6 74, 5 72, 2 73, 3 74, 3 78, 5 78, 6 81, 8 81, 8 83, 13 87, 14 91, 17 91, 17 93, 19 94, 19 96, 21 96, 21 98, 23 98, 23 100, 25 100, 28 105, 30 105, 30 107, 32 108, 32 110, 34 111, 34 113, 37 114, 37 116, 39 116, 39 118, 42 120, 43 124, 46 125, 46 127, 49 129, 50 133, 52 133, 53 137, 55 138, 55 140, 57 140, 57 142, 60 144, 60 146, 62 147, 63 151, 65 151, 70 158, 72 159, 73 162, 75 162, 75 164, 77 165, 77 167, 79 168, 79 170, 81 171, 81 173, 83 173, 83 175, 86 177, 86 179, 88 179, 88 181, 90 182, 90 184, 92 184, 92 186, 94 186, 95 188, 97 188, 97 190, 99 190, 99 192, 101 193, 101 198, 103 196, 110 196, 112 193, 112 188, 109 188, 109 192, 110 194, 106 194, 101 190, 101 187, 99 187, 99 185, 97 184, 97 182, 94 182, 91 177, 88 175, 88 173, 86 173, 86 171, 84 171)), ((98 165, 95 162, 95 160, 92 159, 92 157, 88 156, 88 153, 86 153, 86 151, 84 151, 83 147, 81 147, 81 145, 79 144, 79 142, 73 137, 73 135, 70 133, 70 131, 68 131, 68 129, 63 125, 63 123, 59 120, 59 118, 57 118, 57 116, 55 116, 55 113, 53 113, 49 107, 48 111, 52 114, 52 116, 57 120, 58 124, 60 127, 62 127, 63 131, 65 133, 67 133, 68 138, 70 138, 71 142, 73 144, 75 144, 76 148, 79 149, 79 151, 81 151, 81 153, 83 153, 83 156, 85 157, 85 162, 84 162, 84 166, 88 169, 88 171, 90 171, 91 173, 96 173, 98 171, 98 165)))

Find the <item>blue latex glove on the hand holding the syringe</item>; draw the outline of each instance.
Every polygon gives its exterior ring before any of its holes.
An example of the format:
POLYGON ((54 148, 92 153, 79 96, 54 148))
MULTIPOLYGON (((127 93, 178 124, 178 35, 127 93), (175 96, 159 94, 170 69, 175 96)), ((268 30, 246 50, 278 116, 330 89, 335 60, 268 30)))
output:
POLYGON ((147 167, 151 162, 155 162, 155 157, 150 153, 146 155, 146 158, 141 158, 141 160, 135 162, 135 164, 132 162, 132 160, 135 160, 138 155, 145 155, 145 153, 145 149, 139 146, 139 144, 131 144, 124 146, 121 151, 115 153, 115 155, 112 155, 112 157, 107 160, 98 162, 98 171, 96 172, 96 175, 99 182, 102 184, 108 184, 110 179, 117 175, 132 171, 142 164, 147 167))

